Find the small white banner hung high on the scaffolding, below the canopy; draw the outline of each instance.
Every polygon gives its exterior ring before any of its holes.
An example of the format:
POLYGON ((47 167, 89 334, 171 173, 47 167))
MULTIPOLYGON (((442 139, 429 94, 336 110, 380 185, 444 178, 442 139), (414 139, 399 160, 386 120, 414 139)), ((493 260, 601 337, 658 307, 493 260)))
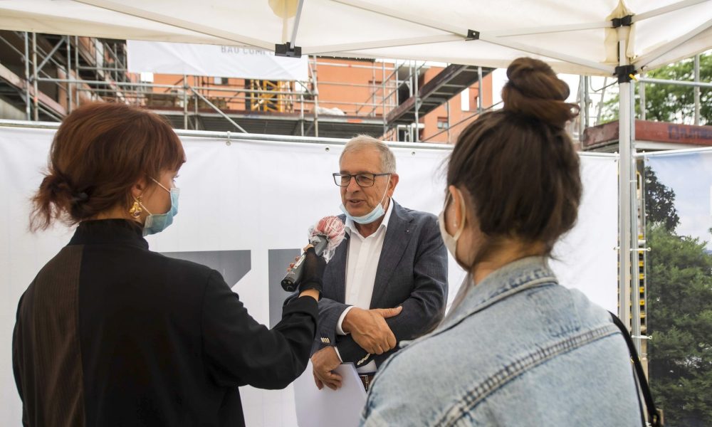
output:
POLYGON ((256 48, 162 41, 127 41, 131 73, 309 80, 308 56, 286 58, 256 48))

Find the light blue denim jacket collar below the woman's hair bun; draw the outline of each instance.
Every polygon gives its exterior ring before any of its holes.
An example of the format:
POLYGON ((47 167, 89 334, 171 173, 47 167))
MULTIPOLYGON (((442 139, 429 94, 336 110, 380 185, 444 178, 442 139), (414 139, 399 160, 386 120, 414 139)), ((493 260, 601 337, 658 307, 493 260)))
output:
MULTIPOLYGON (((463 283, 462 286, 471 285, 469 275, 466 280, 466 283, 463 283)), ((530 256, 508 263, 493 271, 478 285, 474 285, 467 292, 459 306, 452 309, 453 311, 438 329, 448 329, 461 322, 464 318, 503 300, 509 295, 544 283, 557 283, 553 271, 549 268, 548 258, 530 256)))

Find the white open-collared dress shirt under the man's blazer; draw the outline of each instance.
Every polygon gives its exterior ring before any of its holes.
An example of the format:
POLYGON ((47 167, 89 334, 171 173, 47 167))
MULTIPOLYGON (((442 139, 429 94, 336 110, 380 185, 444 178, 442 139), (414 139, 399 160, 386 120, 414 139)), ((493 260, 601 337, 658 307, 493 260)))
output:
MULTIPOLYGON (((376 270, 378 268, 378 260, 381 258, 381 249, 386 236, 386 228, 388 220, 391 218, 393 211, 393 203, 388 201, 388 209, 383 216, 383 221, 375 233, 368 237, 361 236, 356 228, 356 224, 351 219, 346 219, 345 228, 349 233, 349 249, 346 253, 346 305, 350 305, 344 312, 341 313, 339 321, 336 324, 336 333, 345 335, 346 332, 341 327, 347 313, 353 307, 359 307, 364 310, 369 310, 371 307, 371 297, 373 295, 373 285, 376 280, 376 270)), ((336 347, 335 347, 336 349, 336 347)), ((341 359, 339 350, 336 349, 336 354, 341 359)), ((377 370, 376 362, 373 360, 357 369, 359 373, 371 373, 377 370)))

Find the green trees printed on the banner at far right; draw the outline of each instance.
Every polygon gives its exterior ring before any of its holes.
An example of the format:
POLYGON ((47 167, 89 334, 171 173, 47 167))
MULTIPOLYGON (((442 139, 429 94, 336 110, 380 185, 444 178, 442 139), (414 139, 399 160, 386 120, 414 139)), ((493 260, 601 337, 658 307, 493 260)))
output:
MULTIPOLYGON (((653 172, 665 203, 649 222, 646 264, 649 377, 668 426, 712 425, 712 254, 698 238, 676 236, 674 192, 653 172), (674 213, 665 221, 662 212, 674 213)), ((646 181, 649 183, 649 181, 646 181)), ((650 196, 648 184, 646 196, 650 196)), ((646 197, 647 198, 647 197, 646 197)))

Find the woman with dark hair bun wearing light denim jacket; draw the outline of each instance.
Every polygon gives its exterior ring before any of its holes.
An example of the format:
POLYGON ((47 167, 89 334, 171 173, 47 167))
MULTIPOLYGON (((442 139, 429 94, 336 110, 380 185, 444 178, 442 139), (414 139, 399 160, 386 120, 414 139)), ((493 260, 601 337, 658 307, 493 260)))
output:
POLYGON ((577 107, 540 60, 507 76, 503 109, 461 133, 448 165, 441 233, 468 278, 441 325, 379 370, 365 426, 642 424, 619 329, 548 265, 581 199, 564 129, 577 107))

